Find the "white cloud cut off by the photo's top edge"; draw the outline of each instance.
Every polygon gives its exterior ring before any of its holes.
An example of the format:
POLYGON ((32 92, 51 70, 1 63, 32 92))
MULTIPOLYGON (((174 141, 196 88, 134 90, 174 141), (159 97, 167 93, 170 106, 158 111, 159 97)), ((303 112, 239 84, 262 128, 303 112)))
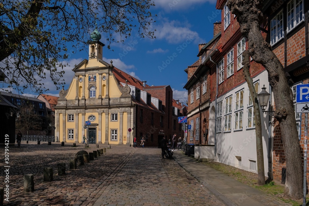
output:
POLYGON ((194 5, 203 3, 216 3, 217 0, 154 0, 155 5, 163 8, 165 11, 190 9, 194 5))

